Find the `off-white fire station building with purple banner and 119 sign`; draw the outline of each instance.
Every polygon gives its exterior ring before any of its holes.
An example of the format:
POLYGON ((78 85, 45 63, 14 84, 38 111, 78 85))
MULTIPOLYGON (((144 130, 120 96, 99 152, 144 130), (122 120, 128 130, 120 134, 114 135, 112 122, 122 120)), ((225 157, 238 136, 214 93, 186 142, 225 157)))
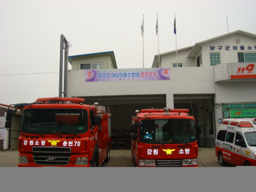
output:
MULTIPOLYGON (((214 146, 225 117, 256 117, 256 35, 241 30, 154 56, 152 68, 118 69, 114 52, 69 56, 66 97, 111 110, 111 129, 128 133, 141 109, 189 109, 203 124, 199 146, 214 146)), ((118 138, 113 138, 118 140, 118 138)), ((127 139, 127 143, 130 140, 127 139)))

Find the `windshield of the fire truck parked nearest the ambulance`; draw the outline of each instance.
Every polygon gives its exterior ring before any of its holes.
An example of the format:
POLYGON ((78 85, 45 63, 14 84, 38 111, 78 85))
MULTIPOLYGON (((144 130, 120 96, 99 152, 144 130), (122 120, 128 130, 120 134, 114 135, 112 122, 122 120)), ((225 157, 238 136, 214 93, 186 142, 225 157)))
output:
POLYGON ((140 127, 142 143, 192 143, 197 140, 191 119, 145 119, 140 127))

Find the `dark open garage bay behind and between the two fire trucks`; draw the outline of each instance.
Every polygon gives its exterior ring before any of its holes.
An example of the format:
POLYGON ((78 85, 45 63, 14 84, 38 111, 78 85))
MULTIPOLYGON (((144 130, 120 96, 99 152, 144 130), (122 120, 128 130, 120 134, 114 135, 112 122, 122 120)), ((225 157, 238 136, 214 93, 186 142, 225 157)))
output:
POLYGON ((119 95, 107 97, 82 97, 85 104, 106 106, 111 111, 111 147, 131 147, 131 116, 138 109, 163 109, 166 107, 166 95, 119 95))

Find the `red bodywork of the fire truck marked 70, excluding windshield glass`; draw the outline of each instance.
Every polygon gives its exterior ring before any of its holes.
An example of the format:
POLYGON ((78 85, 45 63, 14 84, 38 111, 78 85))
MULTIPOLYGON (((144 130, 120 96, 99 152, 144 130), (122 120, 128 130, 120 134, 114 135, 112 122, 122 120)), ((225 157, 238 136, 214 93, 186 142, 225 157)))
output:
MULTIPOLYGON (((35 133, 22 131, 18 138, 18 150, 20 157, 27 157, 27 164, 19 163, 19 167, 43 167, 43 166, 59 166, 59 167, 90 167, 92 160, 96 159, 97 165, 101 165, 107 157, 107 152, 111 150, 111 134, 110 124, 108 123, 111 114, 109 111, 98 112, 97 105, 79 104, 83 102, 80 98, 40 98, 37 102, 42 104, 29 104, 23 108, 25 110, 42 110, 47 109, 49 112, 56 109, 82 109, 87 111, 87 131, 84 133, 58 132, 58 125, 65 124, 67 127, 79 122, 80 114, 61 114, 56 113, 55 122, 48 123, 34 123, 31 129, 35 133), (56 103, 49 104, 47 101, 54 101, 56 103), (71 104, 59 104, 59 101, 71 101, 71 104), (101 119, 100 125, 92 126, 90 111, 94 111, 95 116, 101 119), (54 129, 54 133, 37 133, 37 128, 43 127, 47 129, 54 129), (55 130, 56 129, 56 130, 55 130), (76 164, 78 157, 85 157, 88 164, 76 164), (60 162, 60 163, 56 163, 60 162)), ((23 115, 22 115, 23 116, 23 115)), ((25 117, 23 117, 25 118, 25 117)), ((22 117, 21 117, 22 119, 22 117)), ((22 123, 21 123, 22 124, 22 123)), ((77 129, 77 127, 76 127, 77 129)), ((78 129, 83 129, 79 127, 78 129)), ((70 130, 72 130, 70 128, 70 130)))

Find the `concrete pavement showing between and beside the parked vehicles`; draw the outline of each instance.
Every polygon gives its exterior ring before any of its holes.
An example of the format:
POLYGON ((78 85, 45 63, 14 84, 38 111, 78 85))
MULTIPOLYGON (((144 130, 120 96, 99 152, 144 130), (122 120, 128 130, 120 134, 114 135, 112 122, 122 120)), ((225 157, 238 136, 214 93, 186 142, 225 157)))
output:
MULTIPOLYGON (((222 167, 215 155, 215 148, 199 147, 198 165, 200 167, 222 167)), ((131 150, 116 150, 110 152, 110 160, 103 163, 102 167, 133 167, 131 150)), ((227 165, 228 167, 232 165, 227 165)), ((0 167, 18 167, 18 150, 1 151, 0 167)))

